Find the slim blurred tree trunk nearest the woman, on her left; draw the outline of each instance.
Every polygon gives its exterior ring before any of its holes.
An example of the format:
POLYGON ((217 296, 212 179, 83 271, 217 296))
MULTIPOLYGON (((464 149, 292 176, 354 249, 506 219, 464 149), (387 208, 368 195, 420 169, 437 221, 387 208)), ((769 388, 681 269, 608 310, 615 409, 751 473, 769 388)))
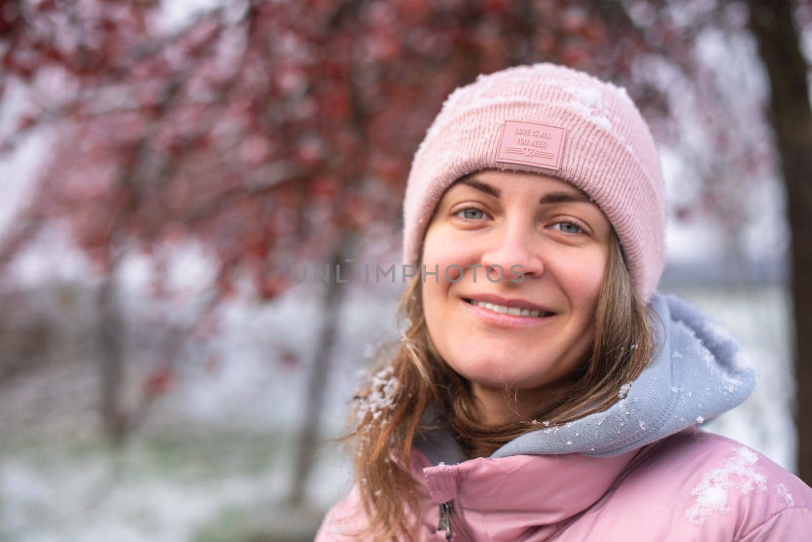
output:
POLYGON ((352 230, 344 230, 341 240, 336 244, 330 256, 330 273, 325 289, 322 308, 322 330, 318 337, 313 366, 310 368, 307 392, 304 394, 304 419, 301 423, 299 443, 296 447, 296 467, 293 476, 293 488, 290 504, 298 507, 304 504, 305 489, 313 470, 313 458, 318 442, 319 417, 327 386, 327 372, 330 370, 330 355, 333 352, 335 336, 339 329, 339 313, 346 285, 336 279, 337 265, 342 266, 342 281, 348 278, 345 258, 352 252, 355 236, 352 230))

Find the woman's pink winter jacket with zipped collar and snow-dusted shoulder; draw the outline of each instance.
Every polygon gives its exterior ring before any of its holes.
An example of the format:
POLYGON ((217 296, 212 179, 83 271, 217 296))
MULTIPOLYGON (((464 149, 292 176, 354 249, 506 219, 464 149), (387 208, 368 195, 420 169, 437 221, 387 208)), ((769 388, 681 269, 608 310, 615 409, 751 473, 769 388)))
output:
MULTIPOLYGON (((416 450, 422 518, 413 540, 810 540, 812 488, 757 451, 688 428, 639 450, 477 458, 431 466, 416 450)), ((316 541, 358 540, 356 488, 326 515, 316 541)))

